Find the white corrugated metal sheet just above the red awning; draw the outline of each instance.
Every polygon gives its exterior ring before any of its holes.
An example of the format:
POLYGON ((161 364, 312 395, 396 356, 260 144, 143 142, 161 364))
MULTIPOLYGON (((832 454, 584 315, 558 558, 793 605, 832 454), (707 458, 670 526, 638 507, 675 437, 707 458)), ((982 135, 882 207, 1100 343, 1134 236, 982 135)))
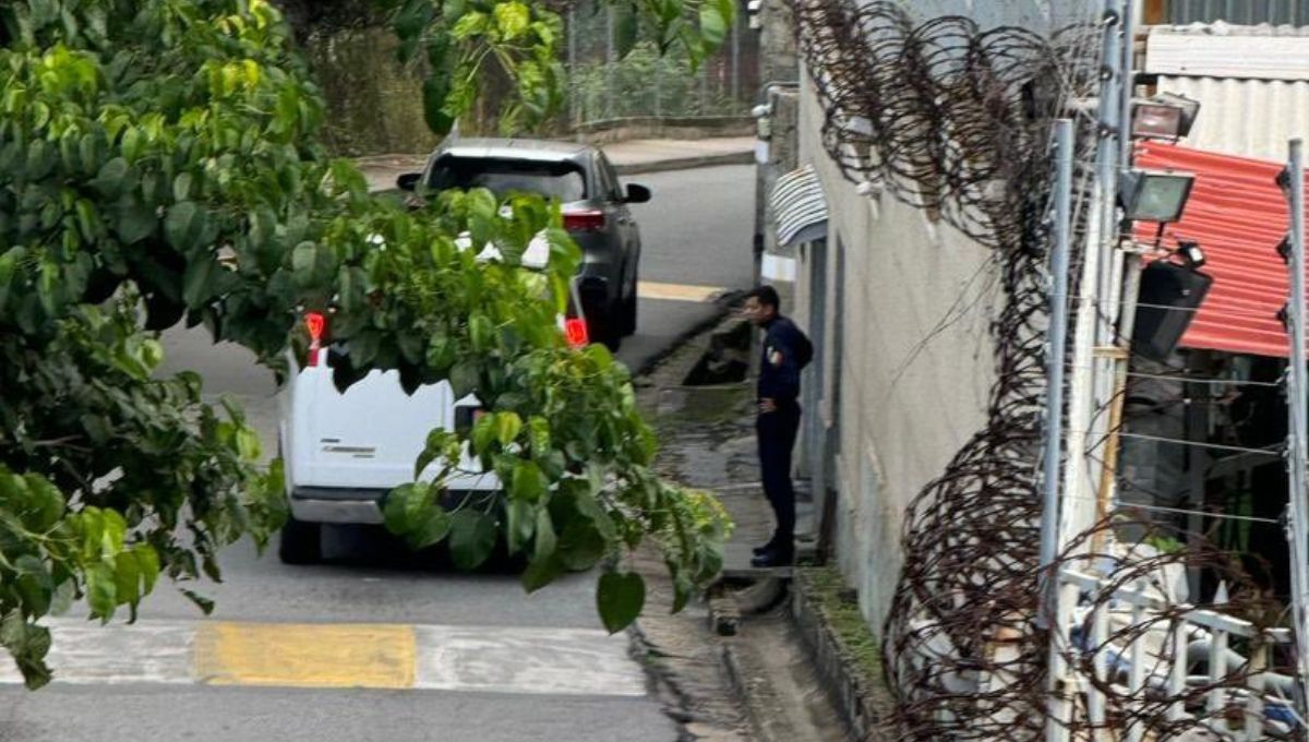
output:
POLYGON ((1200 102, 1189 147, 1282 162, 1287 140, 1309 140, 1309 81, 1160 77, 1158 89, 1200 102))

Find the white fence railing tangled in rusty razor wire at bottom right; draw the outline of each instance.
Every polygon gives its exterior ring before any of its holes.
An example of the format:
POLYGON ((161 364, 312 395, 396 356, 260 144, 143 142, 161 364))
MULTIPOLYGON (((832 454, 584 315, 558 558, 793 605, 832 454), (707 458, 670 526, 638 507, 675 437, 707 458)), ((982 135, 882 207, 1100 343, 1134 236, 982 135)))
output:
POLYGON ((1059 572, 1055 616, 1049 742, 1254 741, 1304 726, 1295 679, 1270 670, 1279 649, 1295 652, 1287 629, 1073 569, 1059 572))

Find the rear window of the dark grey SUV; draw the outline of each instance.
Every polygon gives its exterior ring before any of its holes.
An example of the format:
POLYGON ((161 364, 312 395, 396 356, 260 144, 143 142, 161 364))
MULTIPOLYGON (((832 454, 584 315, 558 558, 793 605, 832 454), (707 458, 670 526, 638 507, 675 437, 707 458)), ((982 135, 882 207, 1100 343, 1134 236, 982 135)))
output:
POLYGON ((497 196, 513 191, 541 194, 560 202, 586 198, 586 178, 573 162, 534 162, 493 157, 442 157, 427 181, 429 188, 490 188, 497 196))

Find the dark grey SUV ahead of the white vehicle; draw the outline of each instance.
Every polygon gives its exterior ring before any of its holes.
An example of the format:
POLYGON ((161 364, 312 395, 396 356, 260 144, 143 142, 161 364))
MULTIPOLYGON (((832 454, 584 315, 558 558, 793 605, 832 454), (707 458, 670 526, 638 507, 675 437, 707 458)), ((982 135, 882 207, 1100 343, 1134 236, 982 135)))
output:
POLYGON ((441 144, 423 173, 397 179, 402 190, 490 188, 541 194, 563 204, 564 226, 583 250, 579 293, 592 340, 618 349, 636 331, 641 236, 627 204, 649 188, 618 181, 594 147, 531 139, 458 139, 441 144), (420 187, 421 185, 421 187, 420 187))

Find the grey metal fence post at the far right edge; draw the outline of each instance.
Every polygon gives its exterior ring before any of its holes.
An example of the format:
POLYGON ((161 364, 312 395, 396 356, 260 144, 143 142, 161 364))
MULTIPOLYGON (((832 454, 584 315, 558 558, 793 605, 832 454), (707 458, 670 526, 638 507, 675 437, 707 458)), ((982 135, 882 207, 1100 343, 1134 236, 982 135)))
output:
MULTIPOLYGON (((1291 140, 1287 171, 1291 175, 1291 369, 1287 407, 1291 433, 1291 574, 1295 602, 1295 628, 1300 661, 1300 682, 1309 683, 1309 385, 1305 380, 1305 174, 1302 143, 1291 140)), ((1309 688, 1306 688, 1309 691, 1309 688)), ((1306 692, 1305 698, 1309 698, 1306 692)))

